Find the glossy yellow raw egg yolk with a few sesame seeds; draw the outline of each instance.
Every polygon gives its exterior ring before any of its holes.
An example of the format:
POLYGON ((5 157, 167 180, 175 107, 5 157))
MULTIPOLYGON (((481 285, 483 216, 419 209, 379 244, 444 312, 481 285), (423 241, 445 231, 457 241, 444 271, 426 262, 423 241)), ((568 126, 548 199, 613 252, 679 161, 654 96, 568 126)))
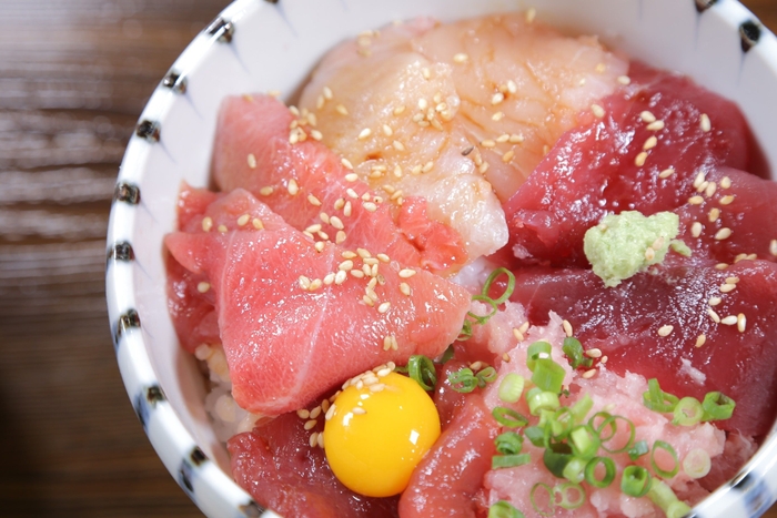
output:
POLYGON ((349 489, 370 497, 402 492, 413 469, 440 437, 440 415, 413 379, 396 373, 334 400, 324 425, 324 451, 349 489))

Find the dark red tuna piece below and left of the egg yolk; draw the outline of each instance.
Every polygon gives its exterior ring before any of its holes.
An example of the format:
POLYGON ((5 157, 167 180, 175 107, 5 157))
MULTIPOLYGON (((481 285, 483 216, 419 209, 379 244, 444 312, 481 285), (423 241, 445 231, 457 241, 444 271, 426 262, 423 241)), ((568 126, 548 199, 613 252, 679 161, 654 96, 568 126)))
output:
POLYGON ((232 474, 256 501, 299 518, 391 518, 396 498, 366 498, 343 486, 323 449, 311 448, 296 414, 232 437, 232 474))

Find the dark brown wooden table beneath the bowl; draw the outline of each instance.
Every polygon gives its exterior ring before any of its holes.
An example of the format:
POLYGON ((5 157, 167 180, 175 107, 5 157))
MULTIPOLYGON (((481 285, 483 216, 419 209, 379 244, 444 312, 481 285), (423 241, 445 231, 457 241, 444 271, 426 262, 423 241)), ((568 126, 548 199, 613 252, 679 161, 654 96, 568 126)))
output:
POLYGON ((200 516, 124 393, 104 235, 145 100, 226 3, 0 1, 0 516, 200 516))

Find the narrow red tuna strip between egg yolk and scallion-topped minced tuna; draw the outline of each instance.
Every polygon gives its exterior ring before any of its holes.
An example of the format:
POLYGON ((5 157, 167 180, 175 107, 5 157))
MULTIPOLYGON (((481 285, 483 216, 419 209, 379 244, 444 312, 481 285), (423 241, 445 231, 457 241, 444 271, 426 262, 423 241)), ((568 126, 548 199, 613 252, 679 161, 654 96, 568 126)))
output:
POLYGON ((402 518, 474 518, 500 425, 473 394, 413 471, 400 498, 402 518))

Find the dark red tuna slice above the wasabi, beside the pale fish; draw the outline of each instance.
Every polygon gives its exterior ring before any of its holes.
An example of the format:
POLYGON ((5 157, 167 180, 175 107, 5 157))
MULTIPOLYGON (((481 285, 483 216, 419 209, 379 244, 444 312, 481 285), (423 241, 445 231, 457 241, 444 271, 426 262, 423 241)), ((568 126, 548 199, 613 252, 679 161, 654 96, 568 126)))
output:
POLYGON ((602 101, 604 116, 583 114, 505 204, 509 246, 523 263, 585 266, 583 235, 605 214, 673 210, 696 194, 697 173, 750 166, 748 128, 734 103, 639 63, 629 75, 632 85, 602 101), (650 126, 645 111, 663 128, 650 126), (662 179, 670 167, 674 174, 662 179))

